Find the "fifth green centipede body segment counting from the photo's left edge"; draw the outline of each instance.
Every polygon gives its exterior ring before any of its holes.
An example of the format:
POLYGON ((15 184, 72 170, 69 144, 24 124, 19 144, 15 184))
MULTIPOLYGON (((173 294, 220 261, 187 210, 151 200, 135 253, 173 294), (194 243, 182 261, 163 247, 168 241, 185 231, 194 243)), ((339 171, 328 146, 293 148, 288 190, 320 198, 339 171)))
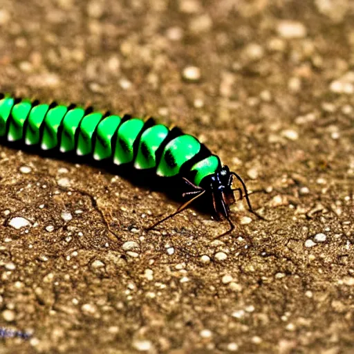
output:
POLYGON ((60 139, 60 151, 67 152, 75 149, 75 132, 84 117, 85 110, 74 108, 66 113, 62 126, 62 138, 60 139))

